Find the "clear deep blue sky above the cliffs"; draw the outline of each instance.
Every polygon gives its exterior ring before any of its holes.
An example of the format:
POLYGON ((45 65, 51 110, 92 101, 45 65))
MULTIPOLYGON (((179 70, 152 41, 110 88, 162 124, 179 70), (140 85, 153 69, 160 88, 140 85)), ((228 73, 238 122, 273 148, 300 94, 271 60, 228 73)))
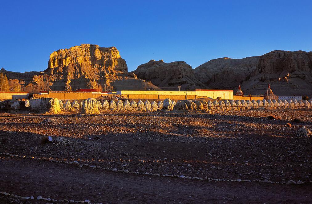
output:
POLYGON ((312 50, 312 1, 1 1, 0 17, 0 67, 17 72, 80 44, 117 47, 129 71, 312 50))

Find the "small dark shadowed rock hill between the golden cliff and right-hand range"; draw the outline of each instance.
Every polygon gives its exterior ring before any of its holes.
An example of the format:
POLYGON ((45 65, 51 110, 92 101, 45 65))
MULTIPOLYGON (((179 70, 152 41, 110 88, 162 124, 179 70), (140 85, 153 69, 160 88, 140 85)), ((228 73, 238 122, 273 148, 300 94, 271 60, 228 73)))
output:
POLYGON ((139 65, 133 73, 163 90, 178 90, 178 86, 181 86, 181 90, 207 88, 197 80, 193 68, 185 62, 165 63, 162 60, 150 60, 139 65))

